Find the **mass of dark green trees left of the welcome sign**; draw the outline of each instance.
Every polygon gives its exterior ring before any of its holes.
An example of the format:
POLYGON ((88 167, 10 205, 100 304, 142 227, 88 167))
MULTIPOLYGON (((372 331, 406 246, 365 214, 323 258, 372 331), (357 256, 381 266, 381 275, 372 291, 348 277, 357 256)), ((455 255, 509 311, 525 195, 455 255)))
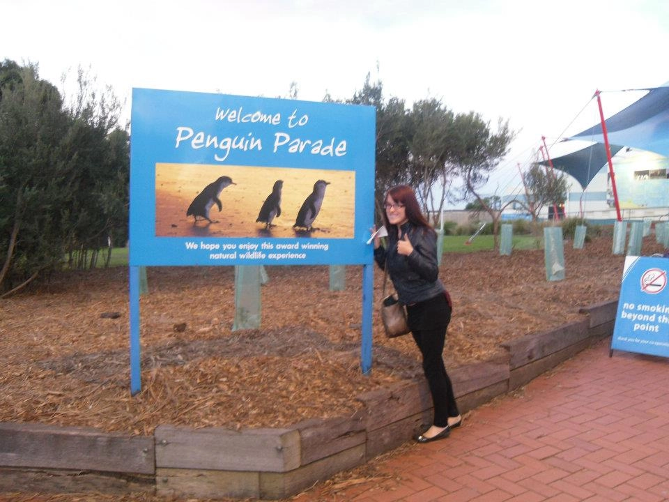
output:
POLYGON ((0 294, 127 232, 128 134, 79 84, 68 109, 36 66, 0 63, 0 294))

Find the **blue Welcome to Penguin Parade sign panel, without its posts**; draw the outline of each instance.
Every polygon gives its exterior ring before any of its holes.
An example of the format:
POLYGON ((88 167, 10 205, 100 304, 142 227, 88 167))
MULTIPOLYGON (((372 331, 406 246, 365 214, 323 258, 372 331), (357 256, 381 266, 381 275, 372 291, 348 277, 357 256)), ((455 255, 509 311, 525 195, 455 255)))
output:
POLYGON ((130 265, 371 264, 374 107, 133 89, 130 265))

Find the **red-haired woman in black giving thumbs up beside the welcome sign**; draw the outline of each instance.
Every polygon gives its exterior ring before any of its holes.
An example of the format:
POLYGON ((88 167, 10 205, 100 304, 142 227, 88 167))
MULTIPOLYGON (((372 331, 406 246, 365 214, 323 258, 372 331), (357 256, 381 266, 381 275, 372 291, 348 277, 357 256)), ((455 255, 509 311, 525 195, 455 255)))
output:
POLYGON ((451 302, 438 279, 436 232, 420 212, 413 189, 407 185, 391 188, 383 206, 388 248, 383 248, 375 236, 374 259, 380 268, 387 267, 399 301, 406 305, 408 325, 423 356, 434 419, 415 439, 429 443, 447 437, 462 423, 442 357, 451 302))

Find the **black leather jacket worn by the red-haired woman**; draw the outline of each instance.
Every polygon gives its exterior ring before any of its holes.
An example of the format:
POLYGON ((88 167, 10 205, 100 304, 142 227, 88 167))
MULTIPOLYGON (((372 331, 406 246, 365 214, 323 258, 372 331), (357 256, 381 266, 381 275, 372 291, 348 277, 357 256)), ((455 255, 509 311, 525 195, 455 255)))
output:
POLYGON ((406 233, 413 245, 408 256, 397 252, 397 238, 388 235, 388 251, 383 246, 374 250, 374 260, 387 272, 397 291, 399 301, 406 305, 429 300, 445 290, 438 278, 437 236, 434 231, 415 227, 410 222, 401 226, 400 238, 406 233))

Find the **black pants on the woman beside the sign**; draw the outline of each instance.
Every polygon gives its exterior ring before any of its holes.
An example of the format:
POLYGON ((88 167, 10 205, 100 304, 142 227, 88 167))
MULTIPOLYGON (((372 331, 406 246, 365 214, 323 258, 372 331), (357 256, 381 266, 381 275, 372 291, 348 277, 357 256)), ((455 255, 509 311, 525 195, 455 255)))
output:
POLYGON ((423 356, 423 371, 432 395, 433 424, 446 427, 449 416, 460 414, 442 356, 451 307, 445 295, 440 295, 411 305, 407 311, 411 334, 423 356))

